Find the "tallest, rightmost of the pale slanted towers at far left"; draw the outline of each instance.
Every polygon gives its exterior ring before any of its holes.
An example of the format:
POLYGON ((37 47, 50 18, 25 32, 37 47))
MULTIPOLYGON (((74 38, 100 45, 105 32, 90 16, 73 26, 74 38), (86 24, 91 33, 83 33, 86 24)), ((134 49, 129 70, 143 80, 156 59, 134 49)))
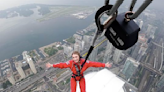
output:
POLYGON ((23 55, 23 59, 26 60, 27 63, 30 65, 30 69, 32 70, 32 72, 34 74, 36 74, 37 73, 37 70, 35 68, 35 64, 34 64, 33 60, 31 59, 31 57, 27 54, 27 51, 24 51, 22 53, 22 55, 23 55))

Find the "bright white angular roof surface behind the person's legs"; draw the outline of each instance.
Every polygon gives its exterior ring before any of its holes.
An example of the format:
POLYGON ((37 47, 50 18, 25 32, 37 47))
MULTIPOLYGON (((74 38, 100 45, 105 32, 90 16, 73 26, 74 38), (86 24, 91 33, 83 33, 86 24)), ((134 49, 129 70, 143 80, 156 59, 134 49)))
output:
MULTIPOLYGON (((107 69, 88 73, 84 77, 86 92, 126 92, 125 82, 107 69)), ((78 82, 76 92, 80 92, 78 82)))

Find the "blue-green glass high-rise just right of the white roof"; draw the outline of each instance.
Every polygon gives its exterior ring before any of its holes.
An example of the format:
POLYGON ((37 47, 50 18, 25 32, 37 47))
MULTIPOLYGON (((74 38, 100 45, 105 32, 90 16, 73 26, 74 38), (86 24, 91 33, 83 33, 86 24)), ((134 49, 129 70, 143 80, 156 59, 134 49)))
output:
POLYGON ((122 74, 124 74, 126 80, 129 80, 132 77, 138 66, 139 63, 136 62, 133 58, 128 57, 126 59, 124 68, 122 70, 122 74))

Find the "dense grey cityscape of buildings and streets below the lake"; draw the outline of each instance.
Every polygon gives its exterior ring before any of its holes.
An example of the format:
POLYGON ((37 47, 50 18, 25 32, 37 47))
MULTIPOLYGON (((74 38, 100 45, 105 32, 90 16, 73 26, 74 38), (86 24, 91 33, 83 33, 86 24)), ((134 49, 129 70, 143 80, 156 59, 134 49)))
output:
MULTIPOLYGON (((163 38, 156 32, 160 26, 147 23, 148 16, 154 17, 150 13, 144 13, 139 19, 136 19, 136 23, 142 27, 142 32, 139 33, 139 39, 135 46, 126 51, 121 51, 113 48, 108 40, 104 40, 106 38, 100 37, 96 42, 96 48, 89 58, 91 61, 112 63, 113 66, 109 70, 128 84, 128 86, 124 85, 126 90, 131 89, 134 92, 162 92, 164 88, 163 38), (151 40, 149 41, 149 39, 151 40)), ((5 89, 6 92, 12 89, 15 90, 14 92, 17 90, 34 91, 37 90, 35 88, 39 89, 39 87, 59 92, 61 90, 68 91, 70 71, 67 69, 47 70, 45 63, 65 62, 71 58, 74 50, 78 50, 82 55, 86 55, 96 31, 95 26, 92 23, 84 29, 77 30, 70 38, 63 39, 63 43, 55 42, 31 51, 22 52, 22 55, 1 60, 0 76, 3 76, 3 78, 7 77, 0 83, 0 87, 5 84, 10 85, 8 84, 9 81, 12 85, 9 86, 11 88, 5 89), (56 82, 53 81, 54 78, 57 78, 56 82), (36 83, 38 80, 43 85, 38 86, 39 83, 36 83), (32 85, 33 83, 36 85, 32 85), (44 88, 45 85, 48 88, 44 88), (20 89, 12 87, 20 87, 20 89)), ((90 69, 87 73, 100 70, 102 68, 90 69)))

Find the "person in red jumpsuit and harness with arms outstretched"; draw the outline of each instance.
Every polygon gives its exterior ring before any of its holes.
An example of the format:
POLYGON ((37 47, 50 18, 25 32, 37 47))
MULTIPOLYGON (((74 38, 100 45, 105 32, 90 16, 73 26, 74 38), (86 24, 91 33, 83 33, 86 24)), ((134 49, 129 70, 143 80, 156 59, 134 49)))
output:
POLYGON ((85 88, 85 78, 83 77, 83 72, 89 67, 111 67, 109 63, 100 63, 87 60, 83 67, 81 67, 82 63, 85 59, 80 58, 80 54, 77 51, 72 53, 72 60, 69 60, 65 63, 57 63, 57 64, 50 64, 47 63, 46 67, 54 67, 54 68, 70 68, 72 71, 71 77, 71 92, 76 92, 76 81, 79 81, 80 90, 81 92, 86 92, 85 88), (78 68, 78 69, 77 69, 78 68), (78 72, 80 70, 80 72, 78 72))

